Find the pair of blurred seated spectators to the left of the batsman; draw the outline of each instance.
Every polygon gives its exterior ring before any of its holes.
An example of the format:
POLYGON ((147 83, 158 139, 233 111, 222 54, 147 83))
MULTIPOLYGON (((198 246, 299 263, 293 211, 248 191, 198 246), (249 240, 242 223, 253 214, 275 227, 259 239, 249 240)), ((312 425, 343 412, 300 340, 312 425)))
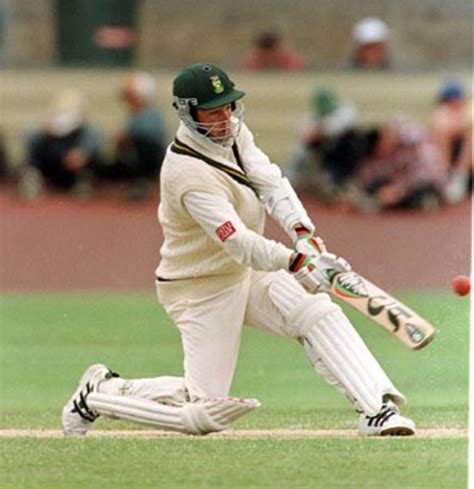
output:
POLYGON ((14 175, 19 197, 35 199, 48 188, 86 197, 104 182, 120 183, 128 200, 151 197, 168 144, 156 82, 133 73, 120 94, 128 121, 113 137, 111 155, 102 131, 87 119, 84 95, 68 89, 54 97, 41 126, 25 137, 25 161, 14 175))

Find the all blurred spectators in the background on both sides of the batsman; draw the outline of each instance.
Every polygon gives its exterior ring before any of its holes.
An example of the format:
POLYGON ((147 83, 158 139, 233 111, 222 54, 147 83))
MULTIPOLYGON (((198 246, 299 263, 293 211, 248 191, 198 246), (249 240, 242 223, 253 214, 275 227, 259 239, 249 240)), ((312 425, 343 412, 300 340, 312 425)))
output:
MULTIPOLYGON (((352 69, 392 70, 390 29, 366 18, 353 28, 352 69)), ((305 61, 265 31, 244 57, 244 70, 299 71, 305 61)), ((156 82, 144 72, 128 75, 120 88, 128 122, 104 147, 100 129, 87 119, 77 90, 57 94, 43 124, 25 135, 25 161, 8 175, 0 138, 0 178, 14 181, 17 195, 35 199, 48 189, 89 196, 98 185, 118 186, 127 200, 144 200, 157 187, 169 139, 156 105, 156 82), (111 143, 111 144, 110 144, 111 143)), ((443 82, 426 127, 396 116, 375 127, 360 123, 360 110, 327 87, 316 87, 311 111, 285 166, 298 191, 355 209, 437 209, 466 199, 472 189, 472 106, 456 80, 443 82)))

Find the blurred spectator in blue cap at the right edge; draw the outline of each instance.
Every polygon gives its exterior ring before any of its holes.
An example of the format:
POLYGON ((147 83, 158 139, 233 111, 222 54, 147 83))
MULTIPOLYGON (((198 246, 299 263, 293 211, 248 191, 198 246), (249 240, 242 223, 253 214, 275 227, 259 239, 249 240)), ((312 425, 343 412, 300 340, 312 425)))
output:
POLYGON ((472 104, 457 81, 444 83, 431 117, 433 137, 447 164, 445 199, 462 201, 472 187, 472 104))

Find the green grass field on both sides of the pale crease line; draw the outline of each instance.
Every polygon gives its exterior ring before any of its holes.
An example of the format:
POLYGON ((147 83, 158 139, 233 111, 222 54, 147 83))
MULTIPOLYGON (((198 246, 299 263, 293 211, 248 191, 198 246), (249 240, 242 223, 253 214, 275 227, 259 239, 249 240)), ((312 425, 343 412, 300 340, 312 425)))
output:
MULTIPOLYGON (((466 427, 469 302, 401 293, 438 326, 412 352, 347 311, 420 428, 466 427)), ((60 428, 83 370, 104 362, 125 377, 180 375, 179 335, 151 295, 1 298, 1 428, 60 428)), ((262 408, 237 428, 355 428, 344 398, 314 375, 294 342, 246 328, 232 387, 262 408)), ((97 427, 128 428, 99 419, 97 427)), ((465 488, 466 439, 0 439, 0 487, 465 488)))

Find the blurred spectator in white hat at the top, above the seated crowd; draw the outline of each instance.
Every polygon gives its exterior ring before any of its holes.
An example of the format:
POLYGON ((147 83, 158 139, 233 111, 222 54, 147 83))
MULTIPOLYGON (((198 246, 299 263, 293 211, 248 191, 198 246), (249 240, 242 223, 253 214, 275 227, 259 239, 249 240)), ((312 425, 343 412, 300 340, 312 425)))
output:
POLYGON ((380 19, 367 17, 352 30, 353 68, 386 70, 392 68, 390 30, 380 19))

